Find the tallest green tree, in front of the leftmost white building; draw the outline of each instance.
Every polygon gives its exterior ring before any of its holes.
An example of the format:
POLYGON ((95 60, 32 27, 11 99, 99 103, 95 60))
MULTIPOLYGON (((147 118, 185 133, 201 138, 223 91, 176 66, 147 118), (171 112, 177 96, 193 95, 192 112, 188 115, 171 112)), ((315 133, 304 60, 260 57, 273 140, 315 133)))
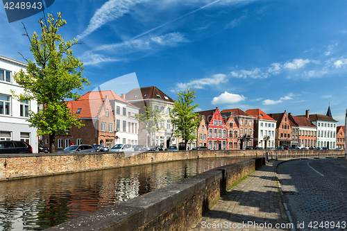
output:
POLYGON ((74 124, 81 128, 83 123, 77 115, 67 108, 64 99, 78 99, 78 91, 90 82, 82 77, 83 62, 72 55, 71 46, 78 44, 76 39, 65 42, 58 29, 67 22, 61 13, 57 17, 48 14, 48 18, 39 20, 41 36, 36 32, 30 37, 24 26, 30 42, 29 49, 35 61, 24 58, 28 62, 26 71, 15 73, 13 78, 24 88, 24 93, 16 95, 19 101, 37 101, 43 105, 37 113, 29 112, 30 126, 37 128, 40 135, 49 135, 50 151, 54 151, 56 135, 65 134, 65 130, 74 124))

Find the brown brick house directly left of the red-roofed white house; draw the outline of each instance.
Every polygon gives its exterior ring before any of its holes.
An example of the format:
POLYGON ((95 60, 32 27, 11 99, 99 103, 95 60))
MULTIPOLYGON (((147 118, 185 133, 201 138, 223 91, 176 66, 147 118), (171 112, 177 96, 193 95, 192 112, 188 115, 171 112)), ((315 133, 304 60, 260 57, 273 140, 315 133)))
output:
POLYGON ((233 117, 239 129, 238 146, 239 149, 253 147, 253 123, 255 117, 251 117, 239 108, 221 111, 222 117, 233 117))

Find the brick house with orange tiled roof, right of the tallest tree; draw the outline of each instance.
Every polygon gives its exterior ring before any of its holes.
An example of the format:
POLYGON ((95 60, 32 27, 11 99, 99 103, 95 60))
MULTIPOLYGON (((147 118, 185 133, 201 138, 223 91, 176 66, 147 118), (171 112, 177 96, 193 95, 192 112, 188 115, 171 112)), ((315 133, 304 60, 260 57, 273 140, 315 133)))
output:
MULTIPOLYGON (((111 148, 115 144, 115 116, 108 96, 105 99, 67 101, 67 107, 75 112, 82 128, 72 126, 66 135, 55 139, 56 151, 74 144, 103 144, 111 148)), ((44 135, 44 146, 48 147, 49 135, 44 135)))

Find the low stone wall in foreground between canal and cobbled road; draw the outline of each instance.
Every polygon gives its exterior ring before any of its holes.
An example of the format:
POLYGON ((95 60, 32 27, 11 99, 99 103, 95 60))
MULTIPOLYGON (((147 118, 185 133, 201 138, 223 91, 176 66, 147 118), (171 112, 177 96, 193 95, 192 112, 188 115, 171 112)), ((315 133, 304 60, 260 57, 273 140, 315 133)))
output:
POLYGON ((46 231, 189 230, 226 189, 262 164, 264 157, 221 166, 46 231))

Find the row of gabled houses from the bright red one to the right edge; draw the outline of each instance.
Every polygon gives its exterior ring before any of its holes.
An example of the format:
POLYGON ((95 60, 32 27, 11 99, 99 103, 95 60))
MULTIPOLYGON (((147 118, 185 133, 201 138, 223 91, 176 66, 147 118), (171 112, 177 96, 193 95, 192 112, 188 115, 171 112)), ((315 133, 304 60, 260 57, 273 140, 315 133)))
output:
MULTIPOLYGON (((260 109, 207 110, 202 118, 197 146, 209 149, 244 148, 345 148, 345 126, 337 126, 330 106, 326 115, 294 116, 291 113, 266 114, 260 109)), ((194 146, 194 144, 192 144, 194 146)))

